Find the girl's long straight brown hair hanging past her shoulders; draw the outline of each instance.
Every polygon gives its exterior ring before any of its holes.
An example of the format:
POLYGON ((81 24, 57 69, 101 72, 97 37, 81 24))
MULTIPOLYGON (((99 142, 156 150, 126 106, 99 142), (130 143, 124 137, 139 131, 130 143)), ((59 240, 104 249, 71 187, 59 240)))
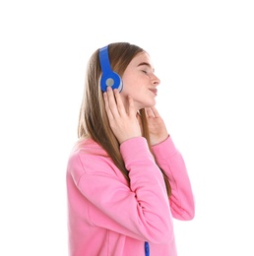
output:
MULTIPOLYGON (((115 42, 109 44, 108 55, 111 68, 122 76, 131 60, 141 52, 144 52, 144 49, 128 42, 115 42)), ((85 90, 80 109, 78 137, 80 139, 89 137, 98 143, 129 182, 130 178, 128 175, 128 170, 125 168, 119 151, 120 145, 109 126, 102 91, 100 90, 99 86, 100 76, 101 69, 97 49, 87 65, 85 90)), ((147 139, 149 148, 151 150, 145 109, 140 110, 140 118, 143 131, 142 136, 147 139)), ((167 194, 169 196, 170 185, 162 169, 161 172, 163 174, 167 194)))

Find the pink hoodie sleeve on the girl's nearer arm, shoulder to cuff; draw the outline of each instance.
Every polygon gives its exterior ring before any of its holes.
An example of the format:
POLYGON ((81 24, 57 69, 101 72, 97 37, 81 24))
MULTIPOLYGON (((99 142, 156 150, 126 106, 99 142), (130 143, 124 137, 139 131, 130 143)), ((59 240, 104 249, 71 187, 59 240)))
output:
POLYGON ((147 141, 125 141, 120 152, 130 185, 109 158, 79 153, 71 160, 72 178, 90 202, 91 224, 154 243, 173 239, 164 180, 147 141))

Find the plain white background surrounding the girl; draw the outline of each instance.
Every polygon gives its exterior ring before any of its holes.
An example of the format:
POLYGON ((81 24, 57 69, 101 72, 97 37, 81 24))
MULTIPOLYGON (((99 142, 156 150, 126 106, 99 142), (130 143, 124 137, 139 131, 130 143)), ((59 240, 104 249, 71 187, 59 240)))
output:
POLYGON ((129 41, 152 56, 193 184, 195 219, 175 221, 179 256, 253 256, 253 13, 246 0, 1 1, 0 255, 67 255, 65 171, 87 61, 129 41))

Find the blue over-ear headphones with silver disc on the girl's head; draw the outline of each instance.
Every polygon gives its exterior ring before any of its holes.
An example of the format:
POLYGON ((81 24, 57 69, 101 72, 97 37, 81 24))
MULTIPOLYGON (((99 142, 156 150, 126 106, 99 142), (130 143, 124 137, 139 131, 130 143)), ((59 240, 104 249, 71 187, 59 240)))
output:
POLYGON ((100 79, 100 88, 103 92, 106 91, 107 87, 112 89, 118 89, 119 92, 123 89, 121 77, 112 71, 110 67, 110 61, 108 57, 108 46, 99 49, 99 63, 102 71, 100 79))

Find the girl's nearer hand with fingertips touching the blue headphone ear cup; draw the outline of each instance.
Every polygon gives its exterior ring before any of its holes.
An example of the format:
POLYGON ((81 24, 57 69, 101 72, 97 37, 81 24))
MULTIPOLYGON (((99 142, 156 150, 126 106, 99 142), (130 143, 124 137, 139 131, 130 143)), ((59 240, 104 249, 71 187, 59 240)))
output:
POLYGON ((128 97, 128 109, 125 109, 117 89, 107 87, 103 96, 109 124, 118 142, 121 144, 128 139, 140 137, 141 129, 133 99, 128 97))

